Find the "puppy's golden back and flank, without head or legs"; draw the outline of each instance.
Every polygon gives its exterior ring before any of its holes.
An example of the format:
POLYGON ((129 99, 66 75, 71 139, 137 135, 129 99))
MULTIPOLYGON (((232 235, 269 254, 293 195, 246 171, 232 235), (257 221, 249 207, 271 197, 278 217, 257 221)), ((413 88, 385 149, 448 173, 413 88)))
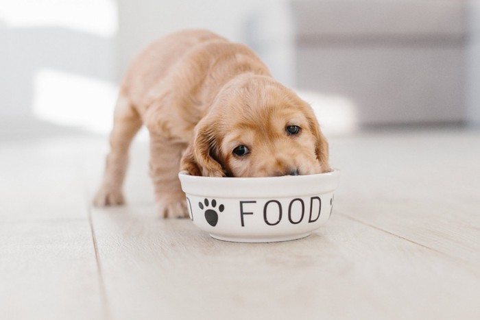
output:
POLYGON ((150 132, 161 128, 162 134, 190 140, 218 91, 241 73, 270 75, 247 46, 212 32, 187 30, 143 50, 130 65, 120 96, 128 99, 150 132))

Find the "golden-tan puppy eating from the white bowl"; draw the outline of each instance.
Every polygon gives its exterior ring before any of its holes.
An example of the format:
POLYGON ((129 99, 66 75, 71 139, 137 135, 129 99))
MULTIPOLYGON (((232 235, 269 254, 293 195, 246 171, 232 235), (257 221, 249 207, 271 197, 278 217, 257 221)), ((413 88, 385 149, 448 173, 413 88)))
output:
POLYGON ((251 49, 203 30, 161 38, 130 64, 95 205, 123 204, 128 148, 142 124, 161 217, 188 217, 179 170, 209 177, 330 170, 311 107, 276 82, 251 49))

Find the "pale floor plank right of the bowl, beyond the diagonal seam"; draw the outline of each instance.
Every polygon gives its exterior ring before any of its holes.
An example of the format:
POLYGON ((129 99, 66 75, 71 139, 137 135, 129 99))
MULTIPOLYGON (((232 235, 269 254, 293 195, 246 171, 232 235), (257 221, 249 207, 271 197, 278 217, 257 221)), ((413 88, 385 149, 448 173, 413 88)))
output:
POLYGON ((336 208, 480 268, 480 133, 365 134, 331 143, 336 208))

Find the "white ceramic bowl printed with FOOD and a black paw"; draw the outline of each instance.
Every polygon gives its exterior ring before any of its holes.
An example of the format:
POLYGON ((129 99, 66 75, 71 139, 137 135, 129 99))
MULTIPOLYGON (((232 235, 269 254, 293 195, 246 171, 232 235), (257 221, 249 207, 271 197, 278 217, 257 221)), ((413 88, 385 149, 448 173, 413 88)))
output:
POLYGON ((243 243, 309 236, 333 209, 339 171, 282 177, 178 174, 190 219, 213 238, 243 243))

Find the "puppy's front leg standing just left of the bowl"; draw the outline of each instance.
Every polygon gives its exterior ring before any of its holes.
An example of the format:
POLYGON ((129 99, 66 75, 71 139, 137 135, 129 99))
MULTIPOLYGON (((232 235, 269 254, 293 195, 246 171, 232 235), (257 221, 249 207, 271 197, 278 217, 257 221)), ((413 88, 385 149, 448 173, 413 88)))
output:
POLYGON ((150 175, 154 184, 159 217, 188 217, 185 194, 178 180, 178 170, 185 143, 150 134, 150 175))

